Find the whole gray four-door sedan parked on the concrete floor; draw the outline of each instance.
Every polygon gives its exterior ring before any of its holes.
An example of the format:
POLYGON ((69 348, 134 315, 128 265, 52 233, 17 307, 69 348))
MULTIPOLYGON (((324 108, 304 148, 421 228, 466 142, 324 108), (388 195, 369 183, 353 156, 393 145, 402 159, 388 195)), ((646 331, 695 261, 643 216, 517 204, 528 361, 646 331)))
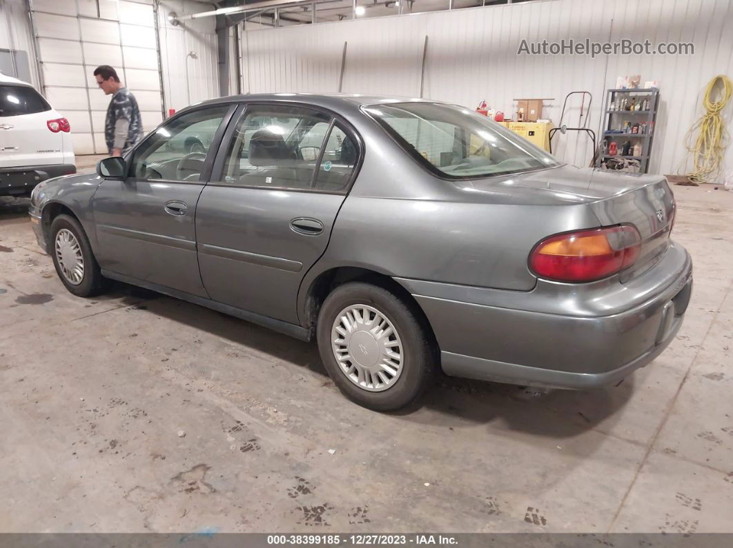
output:
POLYGON ((465 108, 312 94, 194 105, 30 210, 74 295, 115 279, 316 339, 375 410, 441 369, 586 389, 648 364, 690 299, 674 213, 663 177, 564 165, 465 108))

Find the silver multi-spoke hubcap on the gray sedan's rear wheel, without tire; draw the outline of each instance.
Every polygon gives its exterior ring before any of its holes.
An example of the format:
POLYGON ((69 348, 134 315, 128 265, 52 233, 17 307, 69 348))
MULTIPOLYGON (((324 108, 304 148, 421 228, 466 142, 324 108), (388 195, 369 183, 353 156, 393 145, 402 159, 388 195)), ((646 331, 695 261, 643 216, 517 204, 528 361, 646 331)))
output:
POLYGON ((339 368, 361 389, 386 390, 402 375, 399 334, 374 307, 352 304, 339 312, 331 342, 339 368))

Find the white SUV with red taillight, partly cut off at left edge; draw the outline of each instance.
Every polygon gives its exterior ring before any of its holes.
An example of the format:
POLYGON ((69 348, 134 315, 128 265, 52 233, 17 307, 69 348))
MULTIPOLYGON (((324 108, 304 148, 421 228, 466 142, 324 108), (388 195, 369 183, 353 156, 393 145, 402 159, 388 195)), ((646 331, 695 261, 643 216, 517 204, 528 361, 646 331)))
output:
POLYGON ((33 86, 0 72, 0 196, 76 173, 70 130, 33 86))

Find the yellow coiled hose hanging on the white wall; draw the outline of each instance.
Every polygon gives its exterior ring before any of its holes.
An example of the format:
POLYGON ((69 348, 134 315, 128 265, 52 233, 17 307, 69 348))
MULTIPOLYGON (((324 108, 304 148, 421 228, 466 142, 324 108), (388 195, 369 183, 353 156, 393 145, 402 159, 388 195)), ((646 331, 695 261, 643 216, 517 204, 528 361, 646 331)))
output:
POLYGON ((685 137, 685 146, 688 149, 688 159, 692 157, 694 170, 686 175, 690 181, 704 183, 721 175, 723 168, 723 151, 726 147, 728 132, 723 125, 721 111, 726 108, 733 94, 733 82, 726 75, 712 78, 705 89, 702 104, 705 113, 690 127, 685 137), (718 100, 713 100, 713 94, 718 94, 718 100), (693 134, 699 130, 694 146, 693 134))

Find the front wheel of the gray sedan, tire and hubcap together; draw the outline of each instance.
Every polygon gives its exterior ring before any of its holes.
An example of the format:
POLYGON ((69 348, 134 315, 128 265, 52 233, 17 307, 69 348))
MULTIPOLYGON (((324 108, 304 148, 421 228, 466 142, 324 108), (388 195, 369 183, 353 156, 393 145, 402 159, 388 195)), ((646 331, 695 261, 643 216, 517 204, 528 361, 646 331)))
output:
POLYGON ((74 295, 92 297, 106 289, 84 228, 70 215, 59 215, 51 223, 51 256, 56 274, 74 295))

